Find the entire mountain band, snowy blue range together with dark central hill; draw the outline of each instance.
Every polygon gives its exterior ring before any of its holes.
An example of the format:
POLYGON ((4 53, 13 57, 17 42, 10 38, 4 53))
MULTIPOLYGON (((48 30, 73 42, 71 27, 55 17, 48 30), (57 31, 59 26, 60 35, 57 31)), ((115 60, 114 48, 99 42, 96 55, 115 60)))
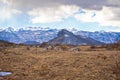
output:
MULTIPOLYGON (((120 39, 120 32, 105 31, 79 31, 76 29, 60 30, 41 27, 28 27, 14 30, 13 28, 0 29, 0 40, 13 43, 38 44, 48 41, 63 40, 62 43, 69 44, 100 44, 113 43, 120 39), (70 32, 69 32, 70 31, 70 32)), ((59 42, 59 41, 58 41, 59 42)), ((56 43, 58 43, 56 42, 56 43)))

